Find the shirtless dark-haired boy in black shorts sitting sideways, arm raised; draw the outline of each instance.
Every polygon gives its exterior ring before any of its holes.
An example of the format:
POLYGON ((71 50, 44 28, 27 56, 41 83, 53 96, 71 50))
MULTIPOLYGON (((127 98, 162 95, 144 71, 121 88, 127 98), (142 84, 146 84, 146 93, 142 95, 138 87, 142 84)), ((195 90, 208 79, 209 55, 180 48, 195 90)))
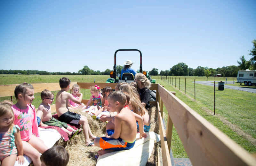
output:
POLYGON ((94 146, 92 140, 94 140, 96 137, 91 132, 87 118, 68 110, 68 99, 79 104, 82 101, 83 94, 77 93, 77 95, 80 96, 79 99, 77 99, 72 94, 67 92, 70 89, 70 80, 67 77, 60 79, 60 88, 61 91, 57 93, 55 102, 59 120, 65 123, 82 124, 86 141, 85 145, 94 146))

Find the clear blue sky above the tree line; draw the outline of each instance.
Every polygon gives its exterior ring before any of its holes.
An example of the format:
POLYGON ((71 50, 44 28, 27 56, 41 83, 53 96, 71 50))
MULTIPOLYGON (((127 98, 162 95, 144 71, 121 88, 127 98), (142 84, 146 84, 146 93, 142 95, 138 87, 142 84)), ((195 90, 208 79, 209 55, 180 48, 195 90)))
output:
MULTIPOLYGON (((142 68, 183 62, 217 68, 249 60, 255 0, 0 1, 4 70, 78 72, 113 69, 117 49, 139 49, 142 68)), ((139 69, 138 52, 118 52, 139 69)))

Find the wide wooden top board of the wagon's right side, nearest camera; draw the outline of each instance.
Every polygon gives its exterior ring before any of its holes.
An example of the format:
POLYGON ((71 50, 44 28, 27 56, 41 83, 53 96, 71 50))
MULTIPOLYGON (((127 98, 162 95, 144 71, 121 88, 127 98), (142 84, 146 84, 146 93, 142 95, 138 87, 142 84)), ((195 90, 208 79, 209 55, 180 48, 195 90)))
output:
POLYGON ((158 92, 193 165, 256 165, 256 159, 162 86, 158 92))

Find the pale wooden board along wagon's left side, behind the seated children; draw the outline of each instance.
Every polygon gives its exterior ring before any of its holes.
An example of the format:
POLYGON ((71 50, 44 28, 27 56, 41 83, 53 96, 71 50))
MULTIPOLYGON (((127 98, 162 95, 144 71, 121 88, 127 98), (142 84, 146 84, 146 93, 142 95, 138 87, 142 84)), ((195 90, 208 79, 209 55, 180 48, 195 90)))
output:
MULTIPOLYGON (((72 87, 76 82, 71 82, 70 87, 72 87)), ((19 84, 13 85, 0 85, 0 97, 14 96, 14 89, 19 84)), ((41 83, 41 84, 31 84, 34 87, 35 93, 41 93, 44 89, 49 91, 61 90, 59 83, 41 83)))

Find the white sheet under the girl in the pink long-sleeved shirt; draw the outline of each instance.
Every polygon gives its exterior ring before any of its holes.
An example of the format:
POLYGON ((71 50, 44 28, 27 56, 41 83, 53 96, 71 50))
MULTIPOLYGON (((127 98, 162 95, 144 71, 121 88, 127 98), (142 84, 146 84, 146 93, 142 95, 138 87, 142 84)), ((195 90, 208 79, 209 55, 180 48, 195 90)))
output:
MULTIPOLYGON (((44 144, 51 148, 53 145, 61 138, 59 132, 54 129, 43 129, 38 128, 39 130, 39 137, 41 140, 44 141, 44 144)), ((19 164, 17 161, 15 162, 14 166, 28 166, 30 162, 32 162, 31 158, 27 155, 24 155, 25 162, 23 165, 19 164)))

